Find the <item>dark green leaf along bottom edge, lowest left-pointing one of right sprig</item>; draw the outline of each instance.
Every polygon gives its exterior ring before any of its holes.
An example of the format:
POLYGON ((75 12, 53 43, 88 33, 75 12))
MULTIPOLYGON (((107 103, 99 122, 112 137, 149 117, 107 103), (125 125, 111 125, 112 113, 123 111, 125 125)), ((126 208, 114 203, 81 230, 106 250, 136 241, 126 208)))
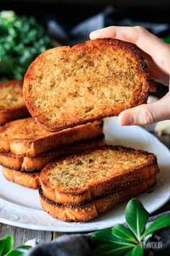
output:
POLYGON ((134 245, 132 244, 102 244, 101 246, 97 247, 97 249, 94 250, 92 253, 92 256, 102 256, 102 255, 114 255, 114 256, 120 256, 127 252, 129 249, 132 249, 134 245))

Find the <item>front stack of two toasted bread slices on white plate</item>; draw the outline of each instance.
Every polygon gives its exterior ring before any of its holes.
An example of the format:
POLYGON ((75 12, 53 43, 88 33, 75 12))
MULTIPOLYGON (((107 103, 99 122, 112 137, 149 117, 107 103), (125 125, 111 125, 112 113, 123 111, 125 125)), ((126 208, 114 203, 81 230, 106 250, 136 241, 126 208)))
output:
POLYGON ((40 174, 40 202, 63 221, 90 221, 156 184, 156 156, 104 145, 49 163, 40 174))

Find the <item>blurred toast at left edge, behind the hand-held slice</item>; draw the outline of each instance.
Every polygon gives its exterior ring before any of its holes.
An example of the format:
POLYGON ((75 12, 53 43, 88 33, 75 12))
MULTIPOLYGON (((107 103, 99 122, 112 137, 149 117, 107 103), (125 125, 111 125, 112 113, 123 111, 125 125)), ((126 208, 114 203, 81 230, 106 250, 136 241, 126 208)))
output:
POLYGON ((23 81, 0 82, 0 124, 30 116, 24 103, 23 81))

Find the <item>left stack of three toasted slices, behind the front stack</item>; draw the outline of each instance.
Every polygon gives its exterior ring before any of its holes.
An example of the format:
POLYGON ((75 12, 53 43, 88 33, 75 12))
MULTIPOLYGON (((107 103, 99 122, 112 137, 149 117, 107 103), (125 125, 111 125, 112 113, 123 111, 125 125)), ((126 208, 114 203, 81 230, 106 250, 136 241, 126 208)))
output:
POLYGON ((48 132, 32 117, 0 127, 0 164, 6 179, 25 187, 40 186, 40 171, 54 158, 98 148, 103 122, 94 121, 61 132, 48 132))

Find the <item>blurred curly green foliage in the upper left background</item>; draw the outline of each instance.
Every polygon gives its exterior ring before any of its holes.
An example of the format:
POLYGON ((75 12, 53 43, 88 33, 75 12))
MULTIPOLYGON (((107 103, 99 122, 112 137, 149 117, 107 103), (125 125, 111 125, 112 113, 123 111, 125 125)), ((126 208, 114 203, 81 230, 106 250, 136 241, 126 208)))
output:
POLYGON ((0 12, 0 80, 22 79, 36 56, 50 48, 50 38, 34 17, 0 12))

